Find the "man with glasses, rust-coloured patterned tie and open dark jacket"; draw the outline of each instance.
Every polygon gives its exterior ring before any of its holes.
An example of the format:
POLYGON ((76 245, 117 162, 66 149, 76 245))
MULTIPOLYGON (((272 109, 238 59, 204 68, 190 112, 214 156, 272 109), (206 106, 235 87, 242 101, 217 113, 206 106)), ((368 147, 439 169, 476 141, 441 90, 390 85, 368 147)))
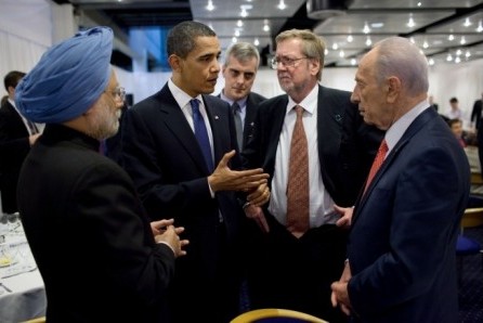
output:
POLYGON ((345 259, 343 227, 350 224, 338 206, 354 205, 382 133, 364 124, 350 92, 318 85, 325 44, 317 35, 291 29, 275 41, 272 67, 287 94, 260 103, 253 135, 243 151, 247 168, 270 173, 271 188, 267 207, 245 207, 253 225, 250 302, 253 309, 286 308, 344 322, 329 299, 330 283, 345 259), (300 120, 304 134, 291 146, 300 120), (306 150, 291 154, 303 138, 306 150), (302 155, 303 166, 296 160, 302 155), (303 175, 306 184, 297 186, 292 179, 303 175))

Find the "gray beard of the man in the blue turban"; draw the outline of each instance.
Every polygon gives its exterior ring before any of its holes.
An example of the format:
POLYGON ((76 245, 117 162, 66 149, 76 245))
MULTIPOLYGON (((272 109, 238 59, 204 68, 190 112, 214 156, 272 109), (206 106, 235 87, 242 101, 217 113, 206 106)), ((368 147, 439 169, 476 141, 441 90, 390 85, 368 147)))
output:
POLYGON ((91 115, 88 134, 97 140, 104 140, 115 135, 119 129, 121 111, 108 104, 106 100, 95 103, 94 113, 91 115))

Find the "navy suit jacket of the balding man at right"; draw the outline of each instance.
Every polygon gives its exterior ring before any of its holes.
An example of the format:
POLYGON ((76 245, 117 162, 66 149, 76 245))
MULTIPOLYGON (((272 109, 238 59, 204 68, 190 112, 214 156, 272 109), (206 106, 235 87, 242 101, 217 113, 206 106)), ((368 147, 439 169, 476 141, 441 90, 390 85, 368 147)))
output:
POLYGON ((455 246, 469 188, 465 152, 426 109, 355 205, 348 245, 354 322, 457 322, 455 246))

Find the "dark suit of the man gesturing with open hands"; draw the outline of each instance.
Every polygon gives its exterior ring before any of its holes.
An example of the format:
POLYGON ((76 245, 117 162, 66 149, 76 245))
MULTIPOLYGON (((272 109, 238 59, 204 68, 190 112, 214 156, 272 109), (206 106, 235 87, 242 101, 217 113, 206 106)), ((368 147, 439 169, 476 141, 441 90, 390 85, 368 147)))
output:
MULTIPOLYGON (((234 118, 222 100, 203 95, 203 101, 217 166, 225 153, 236 147, 234 118)), ((210 284, 217 284, 221 245, 230 249, 237 241, 244 215, 235 194, 218 192, 211 197, 207 180, 211 171, 168 85, 130 108, 122 122, 123 167, 134 180, 148 215, 153 219, 174 218, 174 224, 184 227, 183 236, 190 240, 187 255, 177 261, 177 281, 187 288, 180 284, 173 287, 180 301, 185 299, 181 309, 184 306, 186 314, 193 302, 206 302, 205 311, 217 309, 219 305, 211 302, 204 288, 212 289, 210 284), (226 230, 227 241, 220 241, 220 230, 226 230)), ((232 168, 240 167, 237 160, 236 156, 232 159, 232 168)))

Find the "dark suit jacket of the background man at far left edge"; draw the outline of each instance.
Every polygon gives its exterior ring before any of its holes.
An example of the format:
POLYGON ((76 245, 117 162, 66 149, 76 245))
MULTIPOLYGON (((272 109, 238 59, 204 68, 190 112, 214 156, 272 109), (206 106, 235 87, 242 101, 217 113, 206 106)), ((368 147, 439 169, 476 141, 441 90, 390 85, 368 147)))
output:
POLYGON ((18 210, 15 194, 22 163, 30 150, 28 137, 22 117, 6 101, 0 108, 0 192, 8 214, 18 210))

